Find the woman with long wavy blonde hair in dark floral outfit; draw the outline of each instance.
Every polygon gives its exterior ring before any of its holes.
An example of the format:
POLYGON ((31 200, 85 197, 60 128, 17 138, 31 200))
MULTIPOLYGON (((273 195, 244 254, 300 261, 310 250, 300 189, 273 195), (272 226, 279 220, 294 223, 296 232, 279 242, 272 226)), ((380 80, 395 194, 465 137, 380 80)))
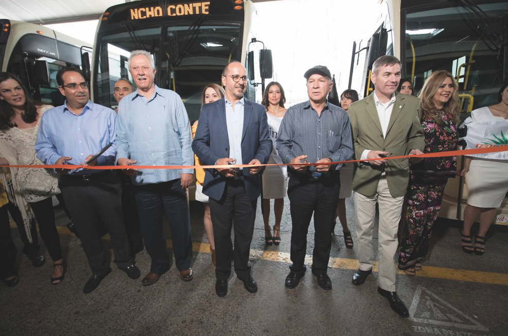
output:
MULTIPOLYGON (((445 70, 433 72, 425 81, 420 93, 425 153, 457 150, 457 90, 457 81, 445 70)), ((457 156, 429 157, 411 164, 398 255, 398 268, 408 275, 422 268, 446 182, 456 176, 456 171, 457 156)))

